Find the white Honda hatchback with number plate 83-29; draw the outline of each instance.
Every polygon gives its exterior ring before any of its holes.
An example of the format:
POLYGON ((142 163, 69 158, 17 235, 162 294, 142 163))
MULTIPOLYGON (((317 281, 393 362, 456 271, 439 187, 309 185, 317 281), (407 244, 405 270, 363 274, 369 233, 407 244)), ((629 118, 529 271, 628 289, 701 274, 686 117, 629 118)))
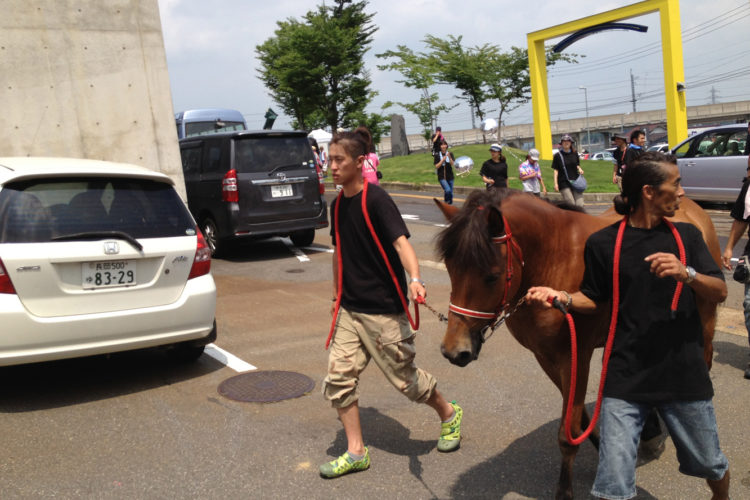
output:
POLYGON ((211 252, 158 172, 0 158, 0 366, 216 338, 211 252))

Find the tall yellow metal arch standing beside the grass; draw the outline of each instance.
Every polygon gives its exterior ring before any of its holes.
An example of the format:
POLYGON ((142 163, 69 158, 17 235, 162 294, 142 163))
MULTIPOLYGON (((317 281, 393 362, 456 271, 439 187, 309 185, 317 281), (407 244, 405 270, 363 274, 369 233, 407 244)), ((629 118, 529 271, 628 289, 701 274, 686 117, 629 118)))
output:
POLYGON ((547 65, 544 42, 601 23, 621 21, 651 12, 659 12, 661 45, 664 62, 664 96, 667 110, 667 135, 670 147, 687 137, 687 109, 680 35, 679 0, 645 0, 619 9, 584 17, 526 35, 529 44, 529 75, 531 77, 531 106, 534 119, 534 141, 541 157, 552 158, 552 128, 550 126, 547 65))

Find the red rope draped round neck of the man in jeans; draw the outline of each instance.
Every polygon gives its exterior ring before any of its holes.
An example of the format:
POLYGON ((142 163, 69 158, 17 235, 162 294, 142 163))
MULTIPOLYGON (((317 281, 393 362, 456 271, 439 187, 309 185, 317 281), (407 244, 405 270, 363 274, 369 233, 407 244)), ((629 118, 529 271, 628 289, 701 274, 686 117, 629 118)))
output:
MULTIPOLYGON (((667 219, 664 219, 669 229, 672 231, 675 241, 677 242, 677 249, 680 254, 680 262, 684 266, 687 263, 685 257, 685 246, 682 243, 682 238, 677 232, 677 228, 667 219)), ((580 436, 573 438, 571 432, 572 426, 572 415, 573 415, 573 400, 575 399, 576 393, 576 372, 578 367, 578 341, 576 338, 576 327, 573 321, 573 316, 569 312, 565 311, 565 319, 568 321, 568 327, 570 328, 570 391, 568 392, 568 404, 565 408, 565 437, 568 442, 572 445, 579 445, 589 437, 591 432, 596 426, 597 420, 599 420, 599 413, 602 407, 602 393, 604 392, 604 382, 607 379, 607 367, 609 365, 609 357, 612 354, 612 345, 615 341, 615 330, 617 329, 617 314, 619 312, 620 304, 620 252, 622 250, 622 238, 625 234, 625 227, 628 225, 628 217, 625 216, 620 222, 620 227, 617 231, 617 238, 615 239, 615 255, 612 262, 612 318, 609 322, 609 333, 607 334, 607 343, 604 346, 604 359, 602 360, 602 374, 599 380, 599 393, 596 397, 596 407, 594 408, 594 416, 591 419, 586 430, 584 430, 580 436)), ((674 316, 677 312, 677 303, 680 301, 680 294, 682 293, 682 282, 677 282, 677 288, 672 296, 672 304, 670 310, 674 316)))

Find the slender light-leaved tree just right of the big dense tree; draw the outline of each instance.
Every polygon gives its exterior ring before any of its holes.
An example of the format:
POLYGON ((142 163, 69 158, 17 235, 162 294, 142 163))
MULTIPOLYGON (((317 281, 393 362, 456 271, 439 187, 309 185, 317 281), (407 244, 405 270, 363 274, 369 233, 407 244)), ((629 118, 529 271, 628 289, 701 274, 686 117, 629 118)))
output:
POLYGON ((416 115, 422 125, 424 138, 429 141, 432 131, 437 125, 438 115, 455 107, 437 104, 438 94, 436 92, 430 93, 430 87, 435 84, 435 77, 429 56, 423 53, 415 54, 405 45, 399 45, 395 51, 388 50, 382 54, 376 54, 376 56, 384 59, 394 58, 395 61, 379 65, 378 69, 398 71, 404 79, 396 80, 397 82, 403 83, 406 87, 415 88, 421 93, 417 102, 388 101, 383 105, 383 108, 398 105, 416 115))

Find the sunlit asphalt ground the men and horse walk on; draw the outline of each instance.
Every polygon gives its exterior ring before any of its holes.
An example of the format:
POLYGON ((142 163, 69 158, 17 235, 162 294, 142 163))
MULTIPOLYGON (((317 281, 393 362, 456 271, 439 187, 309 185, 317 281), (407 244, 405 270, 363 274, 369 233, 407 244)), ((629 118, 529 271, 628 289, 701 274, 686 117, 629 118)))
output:
MULTIPOLYGON (((433 245, 443 221, 432 194, 393 194, 421 259, 428 302, 445 310, 449 282, 433 245)), ((710 213, 725 237, 727 211, 710 213)), ((478 361, 450 365, 439 352, 443 327, 424 309, 417 362, 465 410, 460 450, 438 453, 432 410, 406 400, 370 367, 360 405, 372 467, 321 479, 318 465, 346 447, 336 413, 320 395, 330 325, 328 231, 304 249, 282 240, 238 247, 212 269, 217 345, 258 369, 307 375, 315 389, 278 403, 240 403, 217 392, 237 374, 232 368, 207 355, 177 364, 158 351, 0 368, 0 498, 552 497, 560 460, 557 390, 504 328, 478 361)), ((750 498, 750 381, 742 377, 748 344, 742 290, 729 284, 711 376, 732 497, 750 498)), ((600 369, 594 358, 591 406, 600 369)), ((577 498, 588 498, 596 462, 584 444, 575 465, 577 498)), ((638 468, 638 487, 639 498, 709 497, 702 481, 678 473, 669 441, 661 458, 638 468)))

